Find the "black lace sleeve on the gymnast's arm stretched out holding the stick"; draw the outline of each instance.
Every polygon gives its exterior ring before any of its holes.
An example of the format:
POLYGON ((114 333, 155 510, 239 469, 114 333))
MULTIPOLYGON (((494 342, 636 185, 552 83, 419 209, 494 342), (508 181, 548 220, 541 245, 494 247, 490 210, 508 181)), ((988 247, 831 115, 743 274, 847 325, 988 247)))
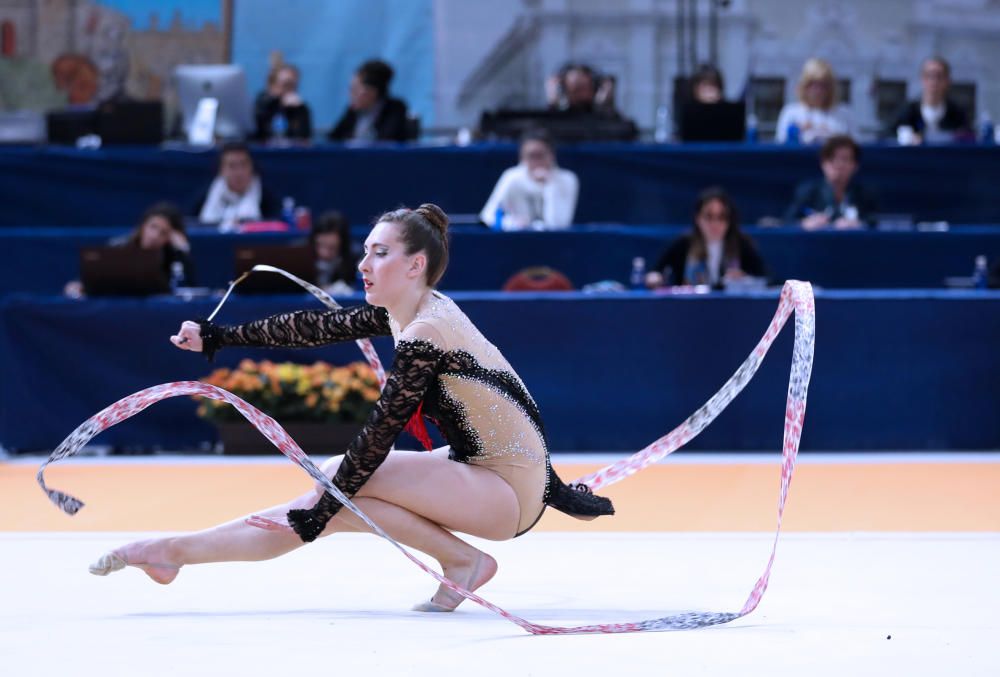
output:
POLYGON ((200 320, 199 324, 202 352, 208 359, 225 346, 311 347, 391 333, 385 308, 369 305, 299 310, 234 327, 207 320, 200 320))

